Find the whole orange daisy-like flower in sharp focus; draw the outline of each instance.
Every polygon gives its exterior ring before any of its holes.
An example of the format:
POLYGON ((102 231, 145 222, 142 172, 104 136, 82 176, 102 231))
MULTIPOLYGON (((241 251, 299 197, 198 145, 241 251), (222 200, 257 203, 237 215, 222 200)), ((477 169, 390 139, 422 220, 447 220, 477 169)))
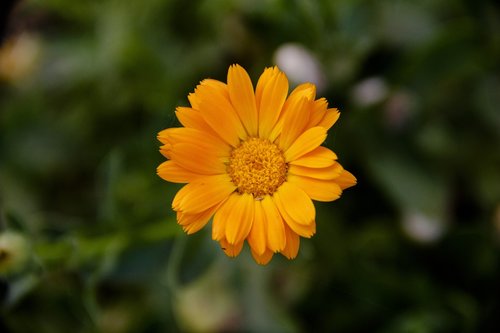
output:
POLYGON ((266 68, 253 88, 239 65, 227 84, 206 79, 178 107, 183 125, 158 134, 168 160, 158 175, 187 183, 174 197, 177 222, 192 234, 212 221, 212 238, 237 256, 245 240, 259 264, 274 253, 297 256, 300 237, 316 232, 312 200, 332 201, 356 178, 321 146, 339 118, 305 83, 288 96, 288 79, 266 68))

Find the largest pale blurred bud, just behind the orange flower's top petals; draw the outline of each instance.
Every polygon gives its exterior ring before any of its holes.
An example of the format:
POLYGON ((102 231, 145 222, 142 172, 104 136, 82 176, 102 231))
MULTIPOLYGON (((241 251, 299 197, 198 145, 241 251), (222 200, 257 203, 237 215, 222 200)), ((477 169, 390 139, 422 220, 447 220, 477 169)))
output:
POLYGON ((283 44, 274 53, 274 61, 292 83, 310 82, 316 85, 318 91, 325 87, 325 77, 318 60, 304 46, 283 44))

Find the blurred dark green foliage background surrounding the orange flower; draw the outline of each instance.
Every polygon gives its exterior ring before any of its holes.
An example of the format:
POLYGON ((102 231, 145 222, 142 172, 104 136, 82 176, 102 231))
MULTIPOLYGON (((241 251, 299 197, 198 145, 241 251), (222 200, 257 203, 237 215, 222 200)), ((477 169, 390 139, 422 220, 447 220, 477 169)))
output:
POLYGON ((500 7, 2 0, 0 332, 500 332, 500 7), (358 185, 298 258, 176 225, 156 134, 278 64, 358 185))

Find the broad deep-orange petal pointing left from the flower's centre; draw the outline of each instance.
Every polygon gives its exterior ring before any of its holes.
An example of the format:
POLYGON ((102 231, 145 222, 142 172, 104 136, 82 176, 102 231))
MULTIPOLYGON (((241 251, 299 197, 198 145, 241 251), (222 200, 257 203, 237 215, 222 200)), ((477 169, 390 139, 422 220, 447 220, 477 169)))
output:
POLYGON ((172 146, 170 159, 177 165, 194 173, 217 175, 226 172, 226 159, 217 157, 203 148, 203 145, 178 143, 172 146))

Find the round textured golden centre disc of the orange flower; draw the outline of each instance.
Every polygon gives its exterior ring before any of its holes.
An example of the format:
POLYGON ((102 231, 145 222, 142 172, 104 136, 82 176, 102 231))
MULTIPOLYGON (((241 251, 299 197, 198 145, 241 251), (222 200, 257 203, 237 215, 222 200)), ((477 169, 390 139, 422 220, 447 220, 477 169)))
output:
POLYGON ((262 198, 286 179, 288 165, 281 150, 265 139, 250 138, 231 152, 227 172, 240 193, 262 198))

